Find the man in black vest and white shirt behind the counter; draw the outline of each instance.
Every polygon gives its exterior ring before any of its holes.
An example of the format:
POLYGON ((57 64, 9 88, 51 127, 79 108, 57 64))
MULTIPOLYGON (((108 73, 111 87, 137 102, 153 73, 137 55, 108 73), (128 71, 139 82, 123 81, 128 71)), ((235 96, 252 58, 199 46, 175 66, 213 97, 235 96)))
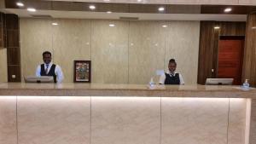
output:
POLYGON ((49 51, 44 51, 43 60, 44 64, 38 66, 36 76, 53 76, 55 83, 61 83, 64 79, 61 66, 51 62, 51 53, 49 51))

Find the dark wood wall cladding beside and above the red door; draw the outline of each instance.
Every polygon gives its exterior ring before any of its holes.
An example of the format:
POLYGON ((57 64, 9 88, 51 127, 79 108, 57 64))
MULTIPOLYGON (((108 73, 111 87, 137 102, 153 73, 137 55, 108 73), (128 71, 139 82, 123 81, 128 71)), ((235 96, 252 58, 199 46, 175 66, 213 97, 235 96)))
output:
POLYGON ((245 36, 245 29, 245 22, 201 21, 198 84, 205 84, 207 78, 217 78, 219 37, 245 36), (214 29, 214 26, 220 29, 214 29))

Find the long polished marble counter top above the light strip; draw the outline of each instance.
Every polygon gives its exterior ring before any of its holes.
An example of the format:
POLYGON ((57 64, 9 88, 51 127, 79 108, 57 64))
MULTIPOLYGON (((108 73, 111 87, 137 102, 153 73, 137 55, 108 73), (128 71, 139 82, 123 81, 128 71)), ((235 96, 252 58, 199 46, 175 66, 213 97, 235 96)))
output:
POLYGON ((0 83, 0 95, 38 96, 148 96, 148 97, 218 97, 255 98, 256 89, 222 85, 155 85, 146 84, 25 84, 0 83))

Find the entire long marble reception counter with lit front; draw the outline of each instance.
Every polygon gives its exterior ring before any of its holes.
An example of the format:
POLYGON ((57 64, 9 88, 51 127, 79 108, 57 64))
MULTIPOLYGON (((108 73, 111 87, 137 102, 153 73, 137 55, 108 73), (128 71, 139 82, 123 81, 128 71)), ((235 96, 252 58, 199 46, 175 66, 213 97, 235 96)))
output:
POLYGON ((0 144, 255 144, 256 90, 0 84, 0 144))

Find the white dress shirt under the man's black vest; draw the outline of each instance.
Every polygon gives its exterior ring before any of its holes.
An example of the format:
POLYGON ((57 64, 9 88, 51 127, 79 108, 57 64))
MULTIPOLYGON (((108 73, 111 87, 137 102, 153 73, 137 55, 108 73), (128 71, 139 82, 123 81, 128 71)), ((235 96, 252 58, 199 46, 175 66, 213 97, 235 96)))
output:
MULTIPOLYGON (((51 66, 52 66, 52 63, 50 62, 49 66, 48 66, 48 72, 49 72, 51 66)), ((44 69, 46 69, 45 63, 44 63, 44 69)), ((39 65, 37 67, 36 76, 40 77, 41 76, 40 73, 41 73, 41 65, 39 65)), ((59 66, 59 65, 55 66, 55 75, 56 75, 57 83, 61 83, 64 79, 63 72, 61 71, 61 66, 59 66)))

